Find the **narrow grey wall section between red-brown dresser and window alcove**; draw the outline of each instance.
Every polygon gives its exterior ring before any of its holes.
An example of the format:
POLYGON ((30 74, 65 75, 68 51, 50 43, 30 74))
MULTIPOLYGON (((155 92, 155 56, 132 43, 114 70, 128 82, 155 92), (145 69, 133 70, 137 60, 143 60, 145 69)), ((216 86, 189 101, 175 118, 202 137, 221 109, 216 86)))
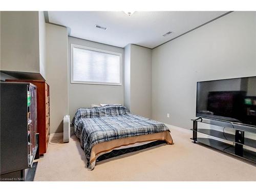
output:
POLYGON ((67 28, 46 24, 47 83, 50 86, 50 133, 63 132, 68 106, 67 28))

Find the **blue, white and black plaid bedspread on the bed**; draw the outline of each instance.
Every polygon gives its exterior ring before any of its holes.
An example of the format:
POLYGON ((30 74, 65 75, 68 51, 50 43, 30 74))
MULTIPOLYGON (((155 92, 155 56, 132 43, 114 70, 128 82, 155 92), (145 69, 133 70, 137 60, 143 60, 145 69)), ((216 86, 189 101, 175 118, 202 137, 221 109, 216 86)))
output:
POLYGON ((168 130, 165 124, 133 115, 122 105, 80 108, 72 122, 88 160, 97 143, 168 130))

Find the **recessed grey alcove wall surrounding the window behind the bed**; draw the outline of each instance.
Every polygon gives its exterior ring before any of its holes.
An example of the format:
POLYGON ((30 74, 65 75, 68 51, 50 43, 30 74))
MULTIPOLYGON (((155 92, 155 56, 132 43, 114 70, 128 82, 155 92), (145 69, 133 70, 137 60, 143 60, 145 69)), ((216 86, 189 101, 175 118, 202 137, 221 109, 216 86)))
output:
POLYGON ((91 104, 119 103, 123 104, 123 58, 124 49, 114 46, 99 44, 79 38, 69 37, 69 115, 73 118, 76 110, 82 106, 90 107, 91 104), (109 86, 99 84, 76 84, 70 83, 70 44, 87 46, 91 48, 112 51, 122 54, 122 86, 109 86))

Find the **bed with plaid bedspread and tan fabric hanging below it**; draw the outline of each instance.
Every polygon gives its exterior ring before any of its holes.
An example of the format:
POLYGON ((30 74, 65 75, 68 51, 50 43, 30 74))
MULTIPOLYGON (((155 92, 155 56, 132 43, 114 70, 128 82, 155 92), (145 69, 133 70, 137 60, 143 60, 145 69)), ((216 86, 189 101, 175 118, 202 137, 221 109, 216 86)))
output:
POLYGON ((164 123, 134 115, 122 105, 79 108, 72 124, 89 170, 94 169, 97 158, 113 150, 154 141, 173 144, 164 123))

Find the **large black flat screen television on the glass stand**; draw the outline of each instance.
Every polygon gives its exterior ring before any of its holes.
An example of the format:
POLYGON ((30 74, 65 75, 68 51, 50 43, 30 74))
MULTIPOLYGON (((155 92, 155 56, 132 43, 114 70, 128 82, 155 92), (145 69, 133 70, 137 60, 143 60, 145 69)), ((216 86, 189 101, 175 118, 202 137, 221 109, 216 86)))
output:
POLYGON ((256 127, 256 76, 197 82, 196 116, 256 127))

